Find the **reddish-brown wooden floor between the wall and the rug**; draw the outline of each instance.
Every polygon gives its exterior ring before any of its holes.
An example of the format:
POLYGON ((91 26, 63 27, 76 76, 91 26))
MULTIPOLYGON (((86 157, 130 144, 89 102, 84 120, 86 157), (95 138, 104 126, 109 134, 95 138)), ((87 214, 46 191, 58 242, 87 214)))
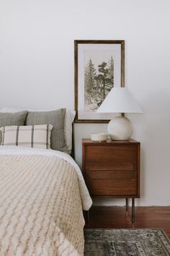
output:
POLYGON ((89 211, 91 229, 164 229, 170 238, 170 207, 136 207, 135 223, 131 221, 131 208, 93 206, 89 211))

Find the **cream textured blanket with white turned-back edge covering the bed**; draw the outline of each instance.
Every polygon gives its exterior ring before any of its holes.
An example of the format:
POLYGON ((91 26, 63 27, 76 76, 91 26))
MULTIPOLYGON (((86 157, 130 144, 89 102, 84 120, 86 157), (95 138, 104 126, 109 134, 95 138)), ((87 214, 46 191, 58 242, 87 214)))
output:
POLYGON ((75 163, 49 151, 0 147, 1 256, 83 255, 91 198, 75 163))

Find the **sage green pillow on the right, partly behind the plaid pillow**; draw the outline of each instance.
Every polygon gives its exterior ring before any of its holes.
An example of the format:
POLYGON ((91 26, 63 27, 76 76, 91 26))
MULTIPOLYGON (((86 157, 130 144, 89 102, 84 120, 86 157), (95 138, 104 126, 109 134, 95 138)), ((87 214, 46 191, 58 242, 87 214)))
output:
POLYGON ((54 111, 30 111, 27 115, 26 125, 52 124, 50 146, 53 150, 68 153, 64 138, 64 119, 66 108, 54 111))

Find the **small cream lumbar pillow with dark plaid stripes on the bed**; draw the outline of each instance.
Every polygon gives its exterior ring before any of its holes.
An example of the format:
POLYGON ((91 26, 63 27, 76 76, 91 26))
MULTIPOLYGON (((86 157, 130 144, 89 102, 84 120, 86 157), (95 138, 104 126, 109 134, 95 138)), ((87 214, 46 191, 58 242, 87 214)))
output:
POLYGON ((1 127, 1 145, 50 148, 51 124, 1 127))

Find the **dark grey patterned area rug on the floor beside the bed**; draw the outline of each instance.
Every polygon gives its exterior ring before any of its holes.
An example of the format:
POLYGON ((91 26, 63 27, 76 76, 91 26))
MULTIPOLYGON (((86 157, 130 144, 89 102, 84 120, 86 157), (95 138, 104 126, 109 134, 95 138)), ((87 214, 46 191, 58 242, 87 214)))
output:
POLYGON ((85 229, 84 256, 170 256, 161 229, 85 229))

